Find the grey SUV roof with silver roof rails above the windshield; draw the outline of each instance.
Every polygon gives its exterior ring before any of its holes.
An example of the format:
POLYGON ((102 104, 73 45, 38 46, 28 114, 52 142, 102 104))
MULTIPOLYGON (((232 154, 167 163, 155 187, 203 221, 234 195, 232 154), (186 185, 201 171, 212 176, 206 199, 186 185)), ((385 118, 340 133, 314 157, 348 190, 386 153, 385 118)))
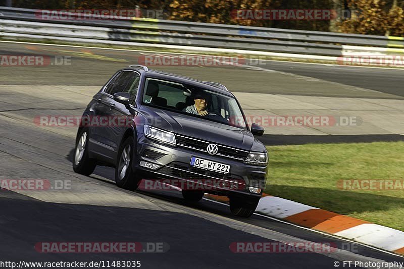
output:
POLYGON ((148 69, 145 66, 140 66, 140 65, 134 65, 130 66, 129 68, 125 68, 122 70, 136 70, 137 72, 140 72, 142 75, 148 77, 148 78, 155 78, 155 79, 161 79, 161 80, 167 80, 167 81, 173 81, 173 82, 178 82, 178 83, 183 83, 183 84, 189 84, 192 86, 208 89, 214 92, 222 93, 224 95, 232 96, 234 95, 227 90, 227 88, 217 82, 207 82, 207 81, 199 81, 193 78, 185 77, 185 76, 180 76, 177 74, 172 74, 164 71, 159 71, 159 70, 153 70, 153 69, 148 69), (217 85, 216 85, 217 84, 217 85))

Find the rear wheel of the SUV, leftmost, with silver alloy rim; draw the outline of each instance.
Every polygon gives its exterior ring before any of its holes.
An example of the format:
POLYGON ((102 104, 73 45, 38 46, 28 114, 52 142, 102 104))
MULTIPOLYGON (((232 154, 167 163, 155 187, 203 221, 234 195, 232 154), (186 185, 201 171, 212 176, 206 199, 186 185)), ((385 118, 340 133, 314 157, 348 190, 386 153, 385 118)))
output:
POLYGON ((81 129, 76 139, 76 148, 73 154, 73 170, 84 176, 94 172, 97 163, 88 157, 88 129, 81 129))

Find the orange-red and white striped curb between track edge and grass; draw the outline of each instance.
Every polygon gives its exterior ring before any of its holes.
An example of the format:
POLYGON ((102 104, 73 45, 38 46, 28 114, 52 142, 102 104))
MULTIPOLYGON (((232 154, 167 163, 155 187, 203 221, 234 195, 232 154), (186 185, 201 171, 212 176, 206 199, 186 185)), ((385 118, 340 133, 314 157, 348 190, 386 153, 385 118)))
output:
MULTIPOLYGON (((207 197, 226 202, 221 196, 207 197)), ((404 255, 404 232, 276 196, 264 195, 256 213, 404 255)))

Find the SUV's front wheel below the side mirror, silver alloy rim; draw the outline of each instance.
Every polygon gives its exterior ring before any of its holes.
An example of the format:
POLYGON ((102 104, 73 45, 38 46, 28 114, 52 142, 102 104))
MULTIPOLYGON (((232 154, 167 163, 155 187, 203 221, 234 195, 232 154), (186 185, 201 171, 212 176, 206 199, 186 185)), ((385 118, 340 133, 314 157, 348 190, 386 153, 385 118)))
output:
POLYGON ((128 137, 118 150, 115 168, 115 182, 118 187, 126 190, 136 190, 141 177, 136 175, 132 168, 133 164, 133 137, 128 137))

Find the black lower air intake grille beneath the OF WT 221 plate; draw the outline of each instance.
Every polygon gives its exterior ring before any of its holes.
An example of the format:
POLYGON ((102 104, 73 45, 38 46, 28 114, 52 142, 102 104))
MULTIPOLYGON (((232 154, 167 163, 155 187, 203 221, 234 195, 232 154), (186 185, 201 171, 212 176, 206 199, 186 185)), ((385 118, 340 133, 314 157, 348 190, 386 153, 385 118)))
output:
POLYGON ((181 179, 194 179, 194 180, 220 179, 238 183, 241 182, 242 184, 245 185, 244 180, 240 176, 232 174, 224 175, 216 173, 214 171, 196 168, 191 165, 180 162, 172 162, 169 165, 158 169, 156 172, 160 172, 165 175, 181 179))

